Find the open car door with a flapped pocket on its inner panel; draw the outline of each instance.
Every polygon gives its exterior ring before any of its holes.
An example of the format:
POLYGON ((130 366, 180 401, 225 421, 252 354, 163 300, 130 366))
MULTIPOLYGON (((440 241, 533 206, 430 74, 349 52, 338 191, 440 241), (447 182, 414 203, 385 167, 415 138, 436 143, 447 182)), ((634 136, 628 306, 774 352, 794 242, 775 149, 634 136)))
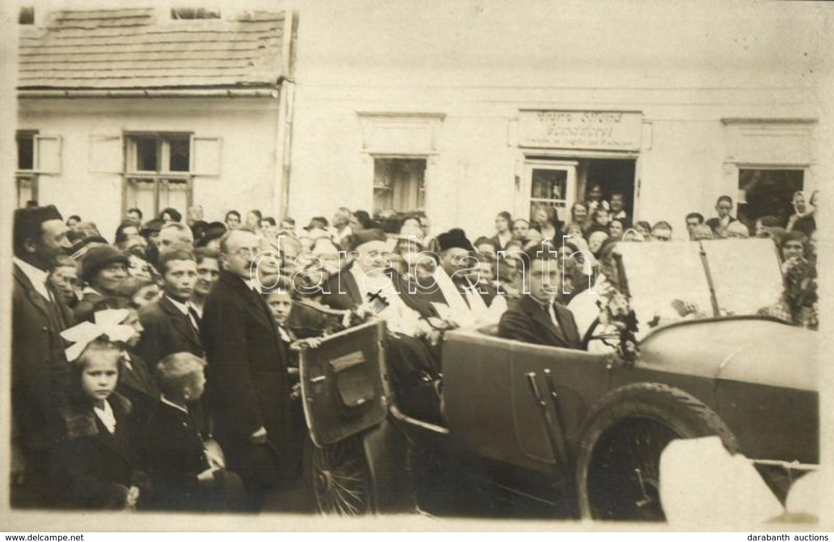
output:
POLYGON ((299 358, 304 417, 313 442, 333 444, 379 424, 387 414, 384 322, 330 335, 299 358))

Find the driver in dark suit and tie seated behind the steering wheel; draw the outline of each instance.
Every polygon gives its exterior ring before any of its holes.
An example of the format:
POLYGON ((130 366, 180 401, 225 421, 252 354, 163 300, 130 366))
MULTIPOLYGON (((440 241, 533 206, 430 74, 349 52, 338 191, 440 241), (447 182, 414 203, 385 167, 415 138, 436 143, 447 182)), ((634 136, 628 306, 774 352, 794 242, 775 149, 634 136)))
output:
POLYGON ((581 338, 570 310, 555 301, 561 287, 558 257, 549 245, 525 252, 530 293, 510 304, 501 316, 498 332, 505 339, 580 349, 581 338))

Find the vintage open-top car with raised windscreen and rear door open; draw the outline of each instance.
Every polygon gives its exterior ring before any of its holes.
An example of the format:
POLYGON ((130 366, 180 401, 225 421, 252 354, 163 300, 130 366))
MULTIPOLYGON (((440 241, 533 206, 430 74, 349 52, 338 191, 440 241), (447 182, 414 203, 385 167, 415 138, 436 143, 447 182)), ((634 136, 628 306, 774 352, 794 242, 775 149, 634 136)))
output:
POLYGON ((384 323, 305 350, 304 476, 319 509, 400 512, 435 499, 454 514, 477 503, 490 515, 663 519, 661 451, 706 435, 761 460, 784 498, 791 464, 818 462, 817 335, 756 315, 781 294, 771 241, 619 243, 616 253, 635 359, 598 319, 584 350, 457 329, 443 344, 442 426, 399 409, 384 323), (697 310, 681 316, 681 301, 697 310))

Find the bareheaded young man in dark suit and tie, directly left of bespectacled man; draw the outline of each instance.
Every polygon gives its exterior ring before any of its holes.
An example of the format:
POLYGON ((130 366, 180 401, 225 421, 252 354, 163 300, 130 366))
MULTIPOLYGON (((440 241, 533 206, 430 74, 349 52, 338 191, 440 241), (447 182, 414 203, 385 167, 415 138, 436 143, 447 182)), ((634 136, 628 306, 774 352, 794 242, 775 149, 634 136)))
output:
POLYGON ((189 299, 197 283, 197 261, 185 248, 166 250, 159 257, 164 295, 139 309, 144 333, 136 347, 150 366, 177 352, 203 357, 200 318, 189 299))

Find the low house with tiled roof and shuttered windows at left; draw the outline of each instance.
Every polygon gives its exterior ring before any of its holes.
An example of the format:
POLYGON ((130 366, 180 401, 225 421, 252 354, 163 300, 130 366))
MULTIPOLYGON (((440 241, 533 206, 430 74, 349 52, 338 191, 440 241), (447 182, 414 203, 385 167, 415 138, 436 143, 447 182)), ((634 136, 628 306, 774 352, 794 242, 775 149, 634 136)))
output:
POLYGON ((279 213, 292 15, 199 15, 63 11, 20 27, 18 206, 54 203, 105 237, 129 208, 279 213))

